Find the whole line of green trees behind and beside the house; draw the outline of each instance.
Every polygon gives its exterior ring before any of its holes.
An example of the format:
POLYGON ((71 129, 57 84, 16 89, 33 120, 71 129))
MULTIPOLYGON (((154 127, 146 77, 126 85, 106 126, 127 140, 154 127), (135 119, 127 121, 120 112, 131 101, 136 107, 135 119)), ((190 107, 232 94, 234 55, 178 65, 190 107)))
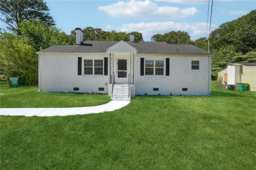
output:
MULTIPOLYGON (((21 85, 38 83, 38 55, 40 51, 52 45, 75 45, 76 34, 61 32, 55 27, 54 20, 43 0, 1 0, 1 20, 8 24, 6 30, 0 30, 0 79, 20 77, 21 85)), ((129 41, 134 34, 134 41, 144 41, 139 32, 103 31, 100 28, 83 29, 84 40, 129 41)), ((224 69, 228 61, 256 62, 256 10, 249 14, 226 22, 211 32, 210 52, 212 57, 212 79, 218 71, 224 69)), ((187 32, 170 31, 155 34, 151 41, 170 44, 192 44, 208 51, 208 39, 190 40, 187 32)))

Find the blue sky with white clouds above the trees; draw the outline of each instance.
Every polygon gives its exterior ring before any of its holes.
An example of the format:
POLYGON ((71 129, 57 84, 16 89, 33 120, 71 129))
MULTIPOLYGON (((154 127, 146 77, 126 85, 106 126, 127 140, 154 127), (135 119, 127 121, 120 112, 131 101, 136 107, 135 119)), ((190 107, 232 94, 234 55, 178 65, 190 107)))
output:
MULTIPOLYGON (((208 0, 44 0, 56 27, 70 34, 75 28, 142 33, 144 41, 154 34, 185 31, 191 40, 209 34, 208 0), (208 34, 206 34, 206 31, 208 34)), ((213 0, 211 31, 256 9, 256 0, 213 0)), ((1 28, 5 25, 1 22, 1 28)))

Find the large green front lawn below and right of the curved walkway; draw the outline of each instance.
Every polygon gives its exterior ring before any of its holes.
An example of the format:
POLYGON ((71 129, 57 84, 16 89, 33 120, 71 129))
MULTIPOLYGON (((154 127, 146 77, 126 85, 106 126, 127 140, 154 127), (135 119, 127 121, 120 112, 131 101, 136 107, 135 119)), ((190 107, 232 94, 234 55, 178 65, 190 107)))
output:
POLYGON ((256 169, 255 99, 213 84, 211 97, 137 96, 99 114, 1 116, 1 170, 256 169))

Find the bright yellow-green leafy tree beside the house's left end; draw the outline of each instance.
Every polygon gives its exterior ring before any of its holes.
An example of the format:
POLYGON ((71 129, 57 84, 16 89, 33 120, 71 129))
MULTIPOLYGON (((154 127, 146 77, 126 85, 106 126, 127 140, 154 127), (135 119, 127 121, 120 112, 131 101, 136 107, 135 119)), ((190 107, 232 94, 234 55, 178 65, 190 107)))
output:
POLYGON ((19 77, 20 85, 34 85, 38 81, 38 56, 31 45, 14 33, 0 33, 0 78, 19 77))

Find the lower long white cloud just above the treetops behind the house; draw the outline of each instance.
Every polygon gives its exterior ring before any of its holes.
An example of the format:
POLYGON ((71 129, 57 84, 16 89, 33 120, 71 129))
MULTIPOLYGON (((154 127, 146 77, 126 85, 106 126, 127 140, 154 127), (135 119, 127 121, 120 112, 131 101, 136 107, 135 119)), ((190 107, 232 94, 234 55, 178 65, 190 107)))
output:
MULTIPOLYGON (((155 34, 164 34, 170 31, 184 31, 190 35, 191 40, 197 40, 202 37, 206 37, 206 27, 205 22, 195 22, 195 23, 175 23, 175 22, 151 22, 145 23, 140 22, 136 24, 123 24, 119 28, 115 28, 118 32, 140 32, 142 33, 144 41, 150 41, 150 38, 155 34)), ((211 30, 218 28, 216 25, 211 25, 211 30)), ((208 26, 209 29, 209 26, 208 26)), ((208 33, 209 34, 209 30, 208 33)), ((208 37, 208 35, 207 35, 208 37)))

